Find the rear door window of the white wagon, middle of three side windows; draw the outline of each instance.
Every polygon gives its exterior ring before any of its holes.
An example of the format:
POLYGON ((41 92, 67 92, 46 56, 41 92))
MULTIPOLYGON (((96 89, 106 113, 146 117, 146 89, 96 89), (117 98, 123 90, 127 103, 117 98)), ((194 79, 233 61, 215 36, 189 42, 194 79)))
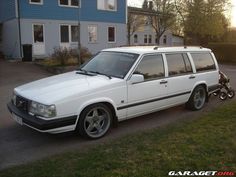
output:
POLYGON ((181 75, 192 72, 192 67, 187 54, 166 54, 169 76, 181 75))

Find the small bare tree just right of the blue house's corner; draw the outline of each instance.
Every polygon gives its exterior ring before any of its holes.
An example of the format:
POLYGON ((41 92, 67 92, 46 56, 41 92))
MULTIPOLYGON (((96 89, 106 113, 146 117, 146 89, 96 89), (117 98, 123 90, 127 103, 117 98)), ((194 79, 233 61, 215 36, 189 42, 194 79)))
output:
POLYGON ((131 44, 131 37, 134 33, 143 25, 143 18, 137 14, 128 13, 128 21, 127 21, 127 39, 128 45, 131 44))

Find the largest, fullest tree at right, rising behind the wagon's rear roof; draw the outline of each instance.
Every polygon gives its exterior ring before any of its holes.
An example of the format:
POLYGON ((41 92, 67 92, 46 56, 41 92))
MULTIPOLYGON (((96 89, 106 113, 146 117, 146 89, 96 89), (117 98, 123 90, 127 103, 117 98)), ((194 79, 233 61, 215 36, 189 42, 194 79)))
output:
POLYGON ((183 32, 192 44, 207 44, 228 27, 225 8, 229 0, 175 0, 183 32))

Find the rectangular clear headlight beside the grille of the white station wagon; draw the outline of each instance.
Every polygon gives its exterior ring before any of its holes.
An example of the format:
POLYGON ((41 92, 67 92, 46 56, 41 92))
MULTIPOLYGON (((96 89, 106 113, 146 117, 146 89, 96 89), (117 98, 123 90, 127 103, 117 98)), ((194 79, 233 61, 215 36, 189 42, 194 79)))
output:
POLYGON ((55 105, 44 105, 31 101, 29 106, 29 112, 34 115, 50 118, 56 116, 56 106, 55 105))

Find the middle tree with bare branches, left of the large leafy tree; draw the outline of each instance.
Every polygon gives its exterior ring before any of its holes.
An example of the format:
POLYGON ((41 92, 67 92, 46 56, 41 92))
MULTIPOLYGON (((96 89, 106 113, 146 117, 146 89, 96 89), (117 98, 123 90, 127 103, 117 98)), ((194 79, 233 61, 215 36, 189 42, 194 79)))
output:
POLYGON ((172 0, 153 0, 151 25, 155 30, 157 44, 161 36, 175 24, 175 6, 172 0))

